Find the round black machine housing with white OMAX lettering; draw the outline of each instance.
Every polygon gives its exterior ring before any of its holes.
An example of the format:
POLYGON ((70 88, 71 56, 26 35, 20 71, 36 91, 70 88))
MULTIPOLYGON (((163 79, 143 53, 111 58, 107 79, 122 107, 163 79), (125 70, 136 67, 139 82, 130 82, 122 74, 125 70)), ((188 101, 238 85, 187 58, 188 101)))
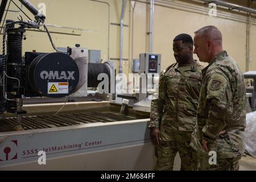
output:
POLYGON ((65 97, 79 82, 77 64, 64 53, 26 52, 25 67, 25 97, 65 97))

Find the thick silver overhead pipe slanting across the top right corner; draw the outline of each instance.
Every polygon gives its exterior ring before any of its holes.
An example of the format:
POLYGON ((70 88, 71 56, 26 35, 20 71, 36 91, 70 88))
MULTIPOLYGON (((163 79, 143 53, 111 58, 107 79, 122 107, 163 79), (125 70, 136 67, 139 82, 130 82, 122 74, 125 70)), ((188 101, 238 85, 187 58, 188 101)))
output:
POLYGON ((236 5, 236 4, 225 2, 225 1, 220 1, 220 0, 199 0, 199 1, 203 1, 203 2, 206 2, 206 3, 216 3, 216 5, 221 5, 221 6, 228 7, 230 10, 236 9, 236 10, 245 11, 247 13, 256 14, 255 9, 251 9, 249 7, 236 5))

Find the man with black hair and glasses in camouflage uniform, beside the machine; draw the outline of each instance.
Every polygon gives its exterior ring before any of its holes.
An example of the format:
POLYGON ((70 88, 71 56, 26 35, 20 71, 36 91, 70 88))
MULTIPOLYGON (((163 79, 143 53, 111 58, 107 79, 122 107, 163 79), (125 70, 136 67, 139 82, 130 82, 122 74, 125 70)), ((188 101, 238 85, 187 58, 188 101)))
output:
POLYGON ((180 34, 174 39, 177 63, 159 78, 159 97, 151 101, 151 135, 157 146, 156 170, 172 170, 179 151, 181 170, 196 170, 196 152, 189 146, 196 123, 201 88, 201 66, 193 60, 193 39, 180 34))

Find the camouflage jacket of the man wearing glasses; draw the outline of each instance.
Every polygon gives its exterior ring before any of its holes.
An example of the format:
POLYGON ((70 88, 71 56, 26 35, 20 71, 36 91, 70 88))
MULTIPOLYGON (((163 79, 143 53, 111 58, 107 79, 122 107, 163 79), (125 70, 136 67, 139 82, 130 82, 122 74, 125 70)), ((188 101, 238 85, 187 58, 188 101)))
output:
POLYGON ((201 69, 203 66, 197 62, 189 65, 175 63, 160 73, 159 96, 151 101, 149 127, 159 127, 161 123, 160 129, 193 131, 202 81, 201 69))

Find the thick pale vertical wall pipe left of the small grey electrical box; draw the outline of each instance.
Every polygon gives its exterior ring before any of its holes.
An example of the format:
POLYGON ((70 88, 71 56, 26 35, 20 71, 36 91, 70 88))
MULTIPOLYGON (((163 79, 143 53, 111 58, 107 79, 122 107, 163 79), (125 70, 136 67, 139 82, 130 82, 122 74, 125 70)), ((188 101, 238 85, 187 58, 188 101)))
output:
POLYGON ((126 0, 123 0, 121 18, 120 18, 119 73, 123 72, 123 18, 125 16, 125 6, 126 6, 126 0))

